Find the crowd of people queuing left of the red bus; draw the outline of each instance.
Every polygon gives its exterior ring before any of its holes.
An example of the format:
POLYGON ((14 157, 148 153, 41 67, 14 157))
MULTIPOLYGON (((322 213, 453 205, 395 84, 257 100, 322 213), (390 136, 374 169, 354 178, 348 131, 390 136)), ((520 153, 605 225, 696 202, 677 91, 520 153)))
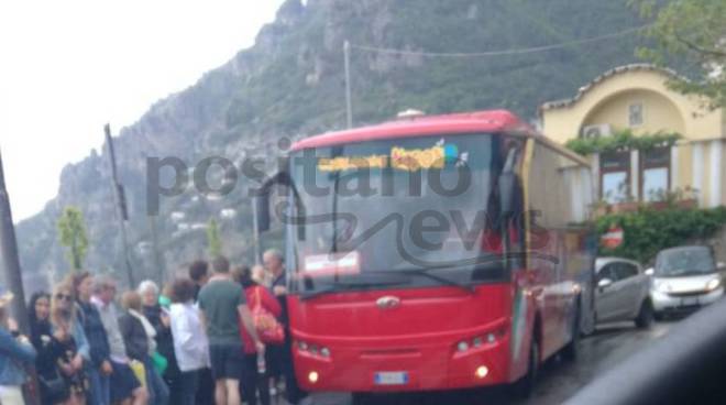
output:
POLYGON ((0 404, 300 403, 283 255, 263 263, 196 261, 163 288, 147 280, 122 294, 108 275, 76 272, 32 295, 28 336, 0 289, 0 404))

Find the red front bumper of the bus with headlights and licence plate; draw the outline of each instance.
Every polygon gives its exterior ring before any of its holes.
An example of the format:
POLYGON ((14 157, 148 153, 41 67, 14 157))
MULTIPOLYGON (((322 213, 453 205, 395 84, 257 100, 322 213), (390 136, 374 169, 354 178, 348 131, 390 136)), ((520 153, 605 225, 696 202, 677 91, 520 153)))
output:
POLYGON ((458 350, 436 346, 293 346, 297 380, 307 391, 406 392, 450 390, 509 383, 509 343, 458 350), (327 357, 320 351, 326 348, 327 357))

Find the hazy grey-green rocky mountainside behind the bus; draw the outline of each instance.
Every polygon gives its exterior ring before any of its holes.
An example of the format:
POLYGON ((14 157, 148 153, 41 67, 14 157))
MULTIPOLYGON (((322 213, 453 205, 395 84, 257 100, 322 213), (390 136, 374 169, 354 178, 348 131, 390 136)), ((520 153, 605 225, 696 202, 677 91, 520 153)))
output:
MULTIPOLYGON (((274 154, 280 136, 342 128, 345 40, 354 45, 355 124, 384 120, 406 108, 429 113, 507 108, 534 119, 542 101, 569 96, 601 72, 632 62, 638 39, 475 58, 389 54, 355 45, 472 53, 562 43, 638 24, 625 0, 288 0, 275 22, 260 31, 254 46, 158 101, 116 138, 136 280, 160 274, 146 216, 147 157, 176 156, 190 167, 212 155, 241 162, 274 154)), ((213 183, 221 175, 210 177, 213 183)), ((19 225, 29 280, 44 282, 66 272, 55 227, 66 205, 80 207, 86 217, 91 242, 87 267, 123 270, 108 178, 106 151, 91 153, 66 166, 57 197, 19 225)), ((230 195, 211 198, 189 188, 162 200, 154 220, 167 272, 205 254, 204 228, 210 218, 221 223, 223 249, 235 262, 252 259, 250 205, 243 189, 240 182, 230 195)), ((265 242, 275 243, 274 237, 265 242)), ((31 288, 40 285, 34 282, 31 288)))

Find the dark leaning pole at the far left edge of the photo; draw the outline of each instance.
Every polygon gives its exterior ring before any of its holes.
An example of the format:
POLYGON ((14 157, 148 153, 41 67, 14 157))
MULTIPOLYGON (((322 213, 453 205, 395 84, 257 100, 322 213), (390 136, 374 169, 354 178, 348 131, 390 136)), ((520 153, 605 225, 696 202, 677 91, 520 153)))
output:
POLYGON ((20 259, 18 258, 18 241, 15 240, 15 227, 12 223, 12 211, 10 210, 10 196, 6 187, 6 174, 2 168, 2 155, 0 154, 0 255, 2 255, 2 267, 6 270, 6 282, 14 295, 11 303, 11 311, 23 333, 30 331, 28 326, 28 308, 25 307, 25 293, 23 289, 23 277, 20 274, 20 259))

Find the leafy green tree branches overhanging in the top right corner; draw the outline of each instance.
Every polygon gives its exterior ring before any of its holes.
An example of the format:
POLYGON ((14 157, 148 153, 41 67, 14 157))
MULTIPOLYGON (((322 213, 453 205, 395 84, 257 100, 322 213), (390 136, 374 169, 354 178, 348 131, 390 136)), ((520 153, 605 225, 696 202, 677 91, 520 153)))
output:
POLYGON ((668 61, 693 66, 693 80, 673 78, 670 88, 704 96, 707 107, 726 107, 726 0, 630 0, 640 15, 652 20, 646 29, 651 45, 638 56, 664 67, 668 61))

